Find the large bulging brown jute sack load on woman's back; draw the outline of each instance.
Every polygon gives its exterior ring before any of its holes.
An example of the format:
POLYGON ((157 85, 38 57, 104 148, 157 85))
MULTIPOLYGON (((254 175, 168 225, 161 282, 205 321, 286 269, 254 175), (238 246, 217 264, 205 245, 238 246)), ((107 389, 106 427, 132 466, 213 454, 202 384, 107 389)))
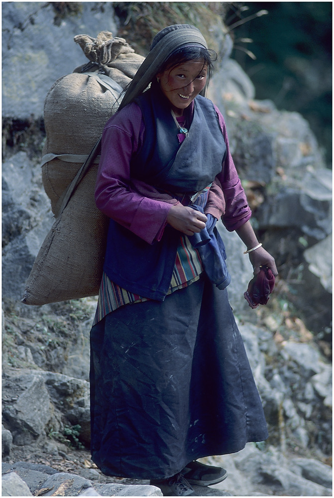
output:
POLYGON ((26 282, 22 302, 30 305, 99 293, 108 230, 94 200, 99 158, 75 178, 144 59, 108 31, 74 39, 90 62, 57 80, 45 99, 42 179, 56 219, 26 282))

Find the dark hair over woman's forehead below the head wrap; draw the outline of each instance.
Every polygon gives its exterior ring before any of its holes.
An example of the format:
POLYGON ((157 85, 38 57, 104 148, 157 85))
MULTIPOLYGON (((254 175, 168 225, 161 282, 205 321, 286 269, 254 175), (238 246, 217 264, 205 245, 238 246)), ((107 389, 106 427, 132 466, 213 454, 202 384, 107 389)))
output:
POLYGON ((183 62, 189 62, 191 60, 203 60, 204 65, 208 66, 208 78, 207 83, 209 83, 213 63, 217 60, 217 54, 214 50, 198 46, 185 46, 174 50, 170 56, 162 64, 159 72, 166 71, 168 69, 172 70, 174 67, 179 66, 183 62))

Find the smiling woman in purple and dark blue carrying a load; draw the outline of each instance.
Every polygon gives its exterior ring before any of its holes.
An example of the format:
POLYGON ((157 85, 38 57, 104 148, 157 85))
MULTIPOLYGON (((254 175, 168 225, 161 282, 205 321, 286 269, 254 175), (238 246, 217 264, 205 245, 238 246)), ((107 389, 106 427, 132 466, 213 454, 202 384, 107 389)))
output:
POLYGON ((277 269, 251 228, 223 116, 202 96, 211 67, 194 26, 155 36, 105 126, 96 187, 110 228, 91 332, 92 458, 165 496, 226 477, 196 459, 267 437, 216 221, 238 233, 254 274, 277 269))

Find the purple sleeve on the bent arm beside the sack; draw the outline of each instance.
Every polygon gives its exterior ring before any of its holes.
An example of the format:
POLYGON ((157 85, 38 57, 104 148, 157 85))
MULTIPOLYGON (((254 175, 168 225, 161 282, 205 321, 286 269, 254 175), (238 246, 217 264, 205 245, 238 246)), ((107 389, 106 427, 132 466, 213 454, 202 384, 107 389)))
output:
POLYGON ((131 190, 130 160, 141 143, 144 127, 140 108, 126 106, 108 121, 102 135, 95 201, 123 227, 152 244, 160 240, 171 204, 131 190))

